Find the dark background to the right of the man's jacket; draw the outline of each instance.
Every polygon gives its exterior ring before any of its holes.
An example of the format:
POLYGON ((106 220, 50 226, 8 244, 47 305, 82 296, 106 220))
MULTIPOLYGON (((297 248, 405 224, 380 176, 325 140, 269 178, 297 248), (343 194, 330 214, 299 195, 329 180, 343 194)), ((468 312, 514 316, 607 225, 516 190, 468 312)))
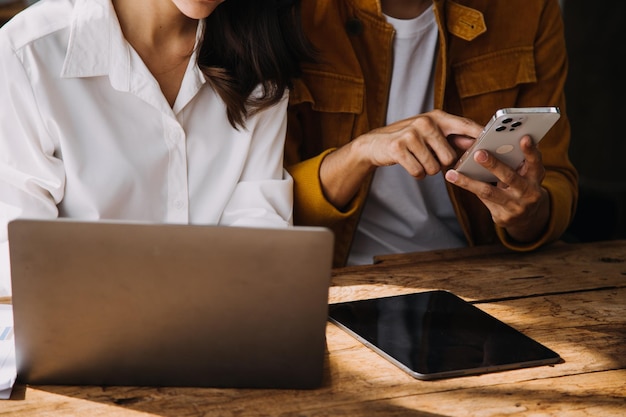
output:
POLYGON ((565 240, 626 238, 626 18, 623 0, 566 0, 572 127, 570 158, 580 200, 565 240), (620 62, 621 61, 621 62, 620 62))

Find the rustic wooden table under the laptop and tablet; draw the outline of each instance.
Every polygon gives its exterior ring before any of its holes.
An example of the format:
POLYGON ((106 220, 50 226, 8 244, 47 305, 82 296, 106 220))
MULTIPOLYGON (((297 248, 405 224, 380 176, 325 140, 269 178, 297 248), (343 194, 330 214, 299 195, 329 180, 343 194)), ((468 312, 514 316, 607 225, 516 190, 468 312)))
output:
POLYGON ((329 323, 319 389, 16 386, 0 416, 626 415, 626 241, 381 257, 335 270, 330 302, 431 289, 476 302, 564 362, 419 381, 329 323))

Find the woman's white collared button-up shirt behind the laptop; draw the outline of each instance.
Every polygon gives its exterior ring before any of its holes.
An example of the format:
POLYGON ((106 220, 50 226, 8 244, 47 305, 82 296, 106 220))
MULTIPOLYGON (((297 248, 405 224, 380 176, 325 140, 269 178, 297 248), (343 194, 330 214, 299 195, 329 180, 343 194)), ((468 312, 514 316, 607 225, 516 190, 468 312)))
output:
POLYGON ((292 224, 287 96, 236 130, 195 59, 172 108, 110 0, 39 2, 0 29, 0 295, 17 217, 292 224))

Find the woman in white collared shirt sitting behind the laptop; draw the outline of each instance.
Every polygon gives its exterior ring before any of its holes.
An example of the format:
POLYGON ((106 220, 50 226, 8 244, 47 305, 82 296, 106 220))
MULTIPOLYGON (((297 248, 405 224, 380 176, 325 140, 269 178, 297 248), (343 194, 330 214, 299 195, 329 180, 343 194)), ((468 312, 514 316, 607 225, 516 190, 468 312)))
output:
MULTIPOLYGON (((0 286, 16 217, 286 227, 297 2, 42 0, 0 30, 0 286)), ((5 268, 6 266, 6 268, 5 268)), ((2 293, 0 288, 0 293, 2 293)))

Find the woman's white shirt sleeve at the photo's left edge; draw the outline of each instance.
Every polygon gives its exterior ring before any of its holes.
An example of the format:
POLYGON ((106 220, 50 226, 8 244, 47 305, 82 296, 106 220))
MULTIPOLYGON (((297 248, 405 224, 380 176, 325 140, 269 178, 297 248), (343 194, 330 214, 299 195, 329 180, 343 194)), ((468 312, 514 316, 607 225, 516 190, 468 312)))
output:
POLYGON ((62 162, 42 122, 28 72, 0 36, 0 295, 10 294, 7 224, 17 217, 57 217, 62 162))

